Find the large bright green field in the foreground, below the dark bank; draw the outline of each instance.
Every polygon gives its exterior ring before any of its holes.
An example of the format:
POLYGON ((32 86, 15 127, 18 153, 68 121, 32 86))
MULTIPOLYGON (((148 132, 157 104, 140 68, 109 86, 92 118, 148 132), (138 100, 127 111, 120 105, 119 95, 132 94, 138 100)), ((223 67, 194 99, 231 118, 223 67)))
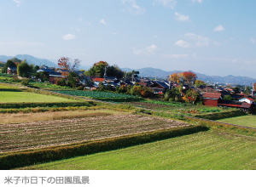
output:
POLYGON ((208 131, 21 169, 255 169, 256 138, 208 131))

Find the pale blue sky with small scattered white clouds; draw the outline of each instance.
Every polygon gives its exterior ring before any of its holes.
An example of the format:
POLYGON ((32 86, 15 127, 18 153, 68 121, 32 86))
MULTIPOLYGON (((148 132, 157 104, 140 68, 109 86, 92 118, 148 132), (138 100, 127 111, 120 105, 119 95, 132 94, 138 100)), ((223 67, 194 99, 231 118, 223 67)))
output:
POLYGON ((0 55, 256 78, 256 1, 1 0, 0 55))

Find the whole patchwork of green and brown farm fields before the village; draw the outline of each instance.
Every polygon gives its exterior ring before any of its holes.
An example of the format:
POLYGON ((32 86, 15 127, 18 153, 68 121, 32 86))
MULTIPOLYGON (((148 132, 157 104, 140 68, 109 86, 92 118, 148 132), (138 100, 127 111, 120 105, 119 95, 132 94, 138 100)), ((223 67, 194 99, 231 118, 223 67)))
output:
MULTIPOLYGON (((52 111, 42 109, 41 112, 40 107, 31 111, 30 108, 26 108, 26 112, 30 113, 0 114, 0 167, 15 168, 47 161, 52 162, 23 167, 23 169, 254 169, 256 167, 254 132, 228 126, 220 125, 220 127, 219 124, 207 126, 207 122, 196 119, 189 121, 185 117, 180 118, 180 121, 170 119, 171 113, 211 116, 234 110, 148 99, 141 102, 138 100, 127 102, 126 99, 138 98, 125 94, 78 90, 60 90, 52 93, 0 83, 0 103, 2 106, 5 105, 6 110, 22 111, 21 105, 24 105, 24 102, 26 105, 45 102, 47 106, 42 108, 55 109, 52 111), (65 96, 65 94, 81 96, 81 99, 74 100, 73 96, 65 96), (126 105, 106 105, 94 101, 90 103, 85 101, 86 97, 113 99, 113 101, 122 99, 126 101, 126 105), (81 102, 83 105, 72 107, 72 102, 80 103, 81 100, 84 100, 84 103, 81 102), (49 102, 60 105, 48 106, 49 102), (8 108, 10 103, 16 104, 8 108), (62 107, 61 105, 64 104, 70 107, 62 107), (13 106, 16 108, 12 108, 13 106), (160 114, 165 118, 160 117, 160 114), (202 130, 189 132, 185 129, 194 127, 202 127, 202 130), (15 159, 19 162, 20 156, 25 157, 22 157, 20 165, 17 166, 15 159), (74 156, 79 157, 70 159, 74 156), (34 161, 33 158, 38 160, 34 161), (66 160, 61 160, 63 158, 66 160), (8 164, 13 167, 8 167, 8 164)), ((24 107, 37 107, 26 105, 24 107)), ((237 124, 239 122, 237 119, 239 118, 231 121, 232 118, 227 118, 226 120, 230 121, 226 122, 237 124)), ((241 120, 243 123, 240 125, 255 127, 253 116, 241 116, 241 120)))

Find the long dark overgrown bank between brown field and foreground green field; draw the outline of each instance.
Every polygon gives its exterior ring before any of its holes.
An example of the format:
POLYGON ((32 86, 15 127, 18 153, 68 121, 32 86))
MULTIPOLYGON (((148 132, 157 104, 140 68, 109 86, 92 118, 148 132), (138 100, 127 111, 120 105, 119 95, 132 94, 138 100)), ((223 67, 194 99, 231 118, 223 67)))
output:
POLYGON ((177 127, 148 133, 137 133, 116 138, 89 141, 79 144, 54 146, 38 150, 24 150, 0 156, 0 169, 12 169, 33 164, 84 156, 101 151, 116 150, 161 139, 207 131, 205 126, 177 127))

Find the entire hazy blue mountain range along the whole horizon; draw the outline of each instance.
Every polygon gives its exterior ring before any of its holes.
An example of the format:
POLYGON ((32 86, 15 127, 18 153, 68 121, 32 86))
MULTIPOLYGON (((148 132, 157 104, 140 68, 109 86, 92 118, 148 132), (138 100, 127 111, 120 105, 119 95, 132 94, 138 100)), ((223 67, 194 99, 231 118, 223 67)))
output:
MULTIPOLYGON (((58 65, 56 65, 54 62, 50 61, 49 59, 38 59, 32 55, 28 55, 28 54, 18 54, 16 56, 4 56, 4 55, 0 55, 0 61, 6 62, 8 59, 13 59, 13 58, 17 58, 17 59, 26 59, 26 61, 29 64, 33 64, 33 65, 46 65, 49 67, 57 67, 58 65)), ((85 69, 88 70, 89 69, 89 65, 81 65, 80 69, 85 69)), ((152 68, 152 67, 145 67, 142 69, 131 69, 131 68, 121 68, 122 71, 139 71, 140 75, 142 77, 157 77, 157 78, 166 78, 169 75, 171 75, 174 72, 182 72, 182 71, 163 71, 160 69, 156 69, 156 68, 152 68)), ((196 72, 195 72, 196 73, 196 72)), ((197 78, 203 82, 210 82, 210 83, 230 83, 230 84, 240 84, 240 85, 249 85, 251 86, 253 82, 256 82, 256 79, 253 79, 251 77, 240 77, 240 76, 226 76, 226 77, 220 77, 220 76, 207 76, 201 73, 196 73, 197 78)))

